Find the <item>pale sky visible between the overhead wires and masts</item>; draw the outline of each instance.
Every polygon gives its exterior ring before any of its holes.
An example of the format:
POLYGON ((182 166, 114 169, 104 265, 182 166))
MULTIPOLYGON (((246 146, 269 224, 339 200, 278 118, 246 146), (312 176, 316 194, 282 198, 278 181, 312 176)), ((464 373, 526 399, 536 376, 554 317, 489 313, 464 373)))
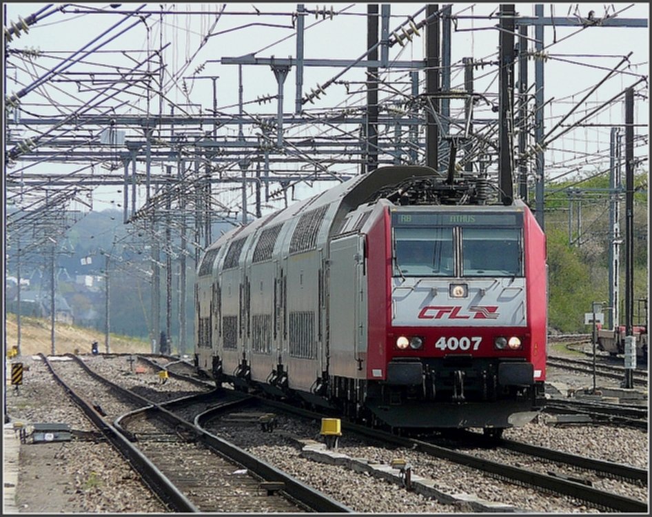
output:
MULTIPOLYGON (((30 14, 39 12, 48 4, 43 3, 5 3, 5 26, 18 23, 30 14)), ((60 6, 63 4, 54 4, 60 6)), ((446 4, 439 4, 444 6, 446 4)), ((498 19, 472 19, 488 15, 498 10, 498 3, 453 3, 451 12, 456 16, 454 31, 451 38, 451 88, 462 88, 463 73, 460 68, 462 57, 473 57, 476 60, 491 61, 497 59, 498 19)), ((533 16, 533 3, 517 3, 516 11, 522 16, 533 16)), ((327 6, 304 4, 310 11, 316 8, 336 12, 333 17, 329 13, 314 14, 306 17, 305 55, 306 59, 358 59, 366 50, 367 21, 365 3, 333 3, 327 6)), ((414 16, 415 21, 424 17, 425 4, 391 3, 390 28, 398 28, 414 16)), ((83 57, 69 72, 88 73, 90 70, 105 70, 106 65, 115 67, 130 67, 134 62, 143 59, 143 51, 165 46, 163 59, 166 64, 165 101, 163 112, 170 110, 170 104, 175 104, 177 112, 187 110, 198 113, 212 109, 214 102, 212 79, 216 77, 216 105, 223 113, 235 114, 238 110, 238 66, 221 63, 223 57, 239 57, 254 54, 255 57, 296 57, 296 39, 294 37, 293 13, 296 13, 295 3, 176 3, 176 4, 105 4, 84 3, 68 4, 62 10, 54 12, 45 19, 30 27, 29 32, 21 33, 8 48, 40 50, 43 55, 38 59, 15 59, 4 70, 6 79, 6 95, 25 88, 38 77, 43 77, 48 70, 61 63, 61 57, 83 48, 92 48, 105 41, 99 38, 104 30, 123 21, 119 28, 109 32, 112 40, 103 45, 101 52, 92 52, 83 57), (166 14, 161 17, 156 12, 144 20, 133 21, 133 17, 125 19, 125 12, 133 11, 144 5, 144 12, 158 11, 159 6, 177 14, 166 14), (112 7, 114 6, 114 7, 112 7), (205 12, 202 16, 192 12, 205 12), (221 14, 216 14, 221 11, 221 14), (260 12, 260 14, 258 14, 260 12), (274 15, 269 14, 274 13, 274 15), (123 34, 116 35, 119 30, 123 34), (210 36, 207 37, 207 35, 210 36), (91 43, 94 42, 94 43, 91 43), (89 45, 90 43, 90 45, 89 45), (88 45, 88 46, 86 46, 88 45), (113 50, 114 52, 107 52, 113 50), (117 52, 117 51, 125 52, 117 52), (104 67, 104 68, 103 68, 104 67)), ((646 3, 554 3, 544 4, 544 14, 555 17, 578 19, 588 17, 593 10, 595 17, 613 16, 649 19, 649 5, 646 3)), ((390 50, 390 59, 416 61, 424 57, 425 37, 414 37, 405 46, 394 45, 390 50)), ((533 32, 529 32, 533 37, 533 32)), ((530 41, 529 45, 533 45, 530 41)), ((544 37, 545 52, 545 92, 544 98, 549 101, 545 116, 547 130, 560 121, 560 117, 573 108, 594 85, 602 81, 622 58, 631 52, 626 66, 618 69, 618 73, 606 81, 583 102, 567 122, 577 120, 594 106, 607 101, 641 77, 649 75, 649 28, 546 28, 544 37)), ((529 64, 529 82, 533 84, 533 61, 529 64)), ((338 74, 339 81, 344 83, 330 85, 325 95, 315 99, 314 104, 307 105, 309 110, 323 111, 356 107, 364 105, 363 94, 347 95, 356 91, 360 85, 356 81, 363 80, 363 69, 353 69, 341 73, 341 68, 313 67, 305 69, 303 94, 318 88, 338 74)), ((243 100, 245 110, 252 114, 276 113, 275 101, 258 105, 256 99, 276 94, 276 80, 272 70, 267 66, 243 66, 243 100)), ((480 68, 476 74, 476 91, 496 92, 495 67, 487 65, 480 68)), ((72 76, 71 76, 72 77, 72 76)), ((81 77, 81 76, 80 76, 81 77)), ((383 71, 387 83, 400 83, 406 80, 406 70, 383 71)), ((36 112, 46 114, 70 114, 83 105, 83 99, 92 97, 93 92, 81 92, 73 83, 47 81, 39 88, 34 88, 23 97, 23 108, 28 116, 36 112)), ((646 83, 639 85, 641 96, 636 99, 635 123, 645 127, 637 128, 637 134, 648 134, 646 125, 649 122, 649 97, 646 83), (644 87, 644 88, 643 88, 644 87)), ((294 112, 295 76, 294 70, 285 80, 286 113, 294 112)), ((381 91, 381 100, 383 92, 381 91)), ((118 94, 122 105, 116 110, 119 114, 142 114, 143 112, 158 113, 161 109, 159 99, 145 99, 145 96, 118 94)), ((461 101, 451 101, 452 110, 461 110, 461 101)), ((611 108, 603 110, 600 118, 592 119, 595 123, 604 125, 618 124, 623 121, 623 103, 613 103, 611 108)), ((130 136, 128 130, 127 138, 130 136)), ((256 134, 257 128, 245 127, 245 136, 256 134)), ((288 134, 299 136, 305 128, 289 128, 288 134)), ((571 171, 573 174, 588 174, 596 164, 604 163, 609 154, 608 127, 582 128, 569 132, 566 136, 551 145, 546 156, 548 178, 564 177, 571 171), (595 157, 597 159, 594 159, 595 157)), ((231 127, 221 133, 230 138, 237 134, 237 128, 231 127)), ((28 136, 28 132, 26 132, 28 136)), ((647 140, 637 144, 636 154, 642 156, 642 168, 647 170, 649 154, 647 140)), ((28 165, 18 161, 14 168, 20 169, 28 165)), ((51 165, 41 164, 26 169, 30 174, 39 169, 60 169, 62 172, 74 174, 74 170, 83 165, 51 165)), ((161 164, 163 167, 163 164, 161 164)), ((14 169, 16 170, 16 169, 14 169)), ((344 174, 356 174, 359 171, 354 165, 343 166, 344 174)), ((329 184, 303 185, 297 191, 298 197, 311 194, 315 189, 327 188, 329 184)), ((103 187, 93 194, 94 210, 114 207, 121 201, 120 187, 103 187)), ((237 194, 223 194, 225 203, 238 203, 237 194)), ((143 196, 141 195, 142 199, 143 196)), ((139 200, 140 201, 140 200, 139 200)))

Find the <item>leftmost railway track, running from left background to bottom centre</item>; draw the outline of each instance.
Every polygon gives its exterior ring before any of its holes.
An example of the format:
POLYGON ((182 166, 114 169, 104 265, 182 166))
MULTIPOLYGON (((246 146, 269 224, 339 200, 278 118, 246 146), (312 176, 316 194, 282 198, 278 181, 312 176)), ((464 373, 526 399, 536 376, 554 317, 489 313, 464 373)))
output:
MULTIPOLYGON (((192 423, 163 407, 163 404, 171 401, 154 403, 136 394, 133 389, 125 389, 103 378, 77 356, 70 356, 70 358, 73 361, 68 362, 68 365, 72 363, 76 367, 74 374, 65 375, 69 381, 72 380, 70 385, 65 383, 63 376, 55 371, 63 367, 53 368, 45 356, 43 361, 46 361, 55 378, 80 407, 83 407, 99 429, 108 436, 111 443, 128 458, 137 472, 143 476, 145 483, 172 511, 197 513, 212 511, 218 507, 228 511, 234 511, 236 507, 240 507, 241 511, 350 511, 318 491, 296 483, 291 476, 261 465, 256 458, 236 450, 224 440, 207 436, 192 423), (91 401, 88 400, 88 392, 79 394, 79 389, 74 387, 84 374, 91 376, 102 385, 92 390, 91 401), (130 420, 136 416, 141 417, 141 423, 145 422, 144 425, 150 426, 148 427, 150 432, 141 433, 142 448, 138 434, 121 427, 122 418, 130 420), (158 422, 158 431, 152 431, 152 422, 147 419, 158 422), (115 425, 111 424, 111 421, 114 421, 115 425), (153 445, 156 443, 159 447, 153 445), (165 444, 163 449, 161 444, 165 444), (151 452, 152 457, 147 454, 148 451, 151 452), (206 454, 210 454, 211 460, 203 463, 205 472, 202 474, 201 468, 198 467, 202 465, 199 458, 206 459, 209 457, 206 454), (176 460, 170 462, 170 458, 176 460), (216 458, 223 458, 219 461, 225 462, 221 470, 223 476, 216 476, 216 472, 212 471, 215 462, 218 461, 216 458), (192 463, 193 459, 198 463, 192 463), (242 472, 243 467, 245 472, 242 472), (194 479, 206 481, 205 489, 200 490, 198 485, 192 484, 188 469, 192 469, 194 479), (234 472, 238 471, 240 473, 234 475, 234 472), (231 493, 239 494, 239 497, 216 499, 211 494, 216 494, 220 486, 230 487, 231 493), (238 504, 234 505, 234 503, 238 504), (258 510, 256 507, 259 507, 258 510)), ((88 389, 88 386, 86 388, 88 389)), ((192 407, 194 399, 199 404, 205 405, 207 400, 214 399, 214 394, 203 391, 181 398, 186 408, 192 407)))

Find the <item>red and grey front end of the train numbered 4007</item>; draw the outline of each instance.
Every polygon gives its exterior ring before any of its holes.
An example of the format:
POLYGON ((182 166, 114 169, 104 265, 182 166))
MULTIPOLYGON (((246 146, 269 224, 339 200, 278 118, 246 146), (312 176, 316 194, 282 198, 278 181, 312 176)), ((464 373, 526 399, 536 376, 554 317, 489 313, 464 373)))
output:
POLYGON ((544 235, 527 206, 392 206, 385 238, 369 247, 370 261, 389 259, 386 313, 369 321, 368 378, 384 377, 367 394, 376 416, 396 427, 490 434, 536 416, 547 271, 544 235))

